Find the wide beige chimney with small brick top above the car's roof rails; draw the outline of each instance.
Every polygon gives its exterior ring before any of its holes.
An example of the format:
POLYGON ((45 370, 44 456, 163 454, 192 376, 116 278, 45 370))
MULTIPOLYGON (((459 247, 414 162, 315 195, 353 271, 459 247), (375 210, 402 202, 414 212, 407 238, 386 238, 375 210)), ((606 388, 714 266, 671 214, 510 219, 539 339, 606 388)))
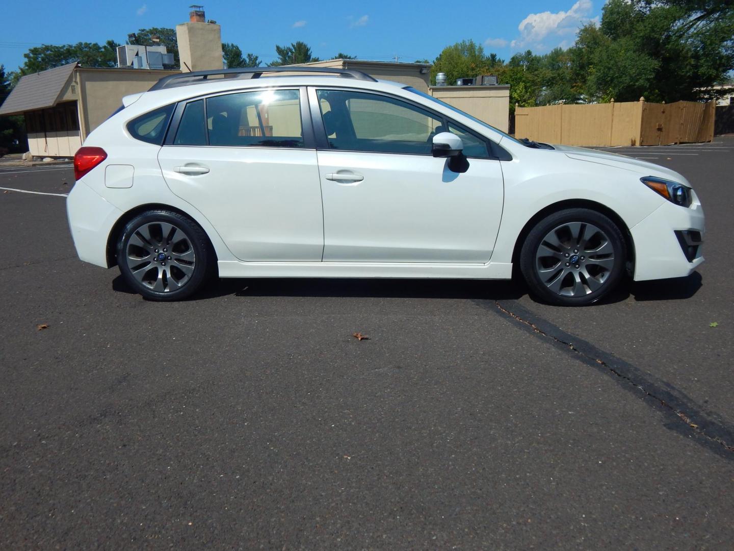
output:
POLYGON ((206 23, 203 6, 191 6, 189 21, 176 25, 181 71, 222 69, 222 27, 206 23))

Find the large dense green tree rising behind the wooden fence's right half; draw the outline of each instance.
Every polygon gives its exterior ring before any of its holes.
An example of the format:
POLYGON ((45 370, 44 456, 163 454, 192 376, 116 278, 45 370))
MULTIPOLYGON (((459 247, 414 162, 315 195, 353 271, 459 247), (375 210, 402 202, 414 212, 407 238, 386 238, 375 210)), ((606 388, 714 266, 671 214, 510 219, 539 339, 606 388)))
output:
POLYGON ((731 0, 609 0, 571 53, 588 101, 698 100, 734 68, 731 0))

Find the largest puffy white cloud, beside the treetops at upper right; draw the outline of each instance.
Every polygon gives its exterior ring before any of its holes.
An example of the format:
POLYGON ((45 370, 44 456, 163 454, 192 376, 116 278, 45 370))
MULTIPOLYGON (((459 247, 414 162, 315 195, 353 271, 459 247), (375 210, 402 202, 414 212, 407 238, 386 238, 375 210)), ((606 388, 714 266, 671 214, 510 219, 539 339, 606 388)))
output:
POLYGON ((560 43, 569 35, 575 35, 580 26, 589 21, 595 21, 589 18, 591 12, 591 0, 578 0, 567 12, 531 13, 520 21, 520 25, 517 26, 520 36, 512 40, 510 46, 512 48, 544 49, 543 40, 545 39, 551 41, 560 39, 558 40, 560 43))

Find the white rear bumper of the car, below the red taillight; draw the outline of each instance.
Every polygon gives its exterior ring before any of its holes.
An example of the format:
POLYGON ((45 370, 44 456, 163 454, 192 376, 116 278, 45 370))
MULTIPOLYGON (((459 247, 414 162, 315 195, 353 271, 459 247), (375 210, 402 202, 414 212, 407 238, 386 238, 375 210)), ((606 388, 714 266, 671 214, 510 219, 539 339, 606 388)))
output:
POLYGON ((79 259, 109 267, 107 237, 123 212, 81 180, 76 182, 66 198, 66 214, 79 259))

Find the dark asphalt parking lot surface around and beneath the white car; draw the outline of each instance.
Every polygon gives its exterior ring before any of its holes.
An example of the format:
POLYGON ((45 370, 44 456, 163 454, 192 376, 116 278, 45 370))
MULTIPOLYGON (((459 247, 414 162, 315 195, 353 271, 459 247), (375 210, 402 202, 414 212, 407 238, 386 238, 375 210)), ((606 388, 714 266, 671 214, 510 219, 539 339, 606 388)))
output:
POLYGON ((706 262, 584 309, 498 281, 151 303, 76 258, 70 168, 0 171, 0 548, 730 549, 734 139, 611 151, 691 181, 706 262))

